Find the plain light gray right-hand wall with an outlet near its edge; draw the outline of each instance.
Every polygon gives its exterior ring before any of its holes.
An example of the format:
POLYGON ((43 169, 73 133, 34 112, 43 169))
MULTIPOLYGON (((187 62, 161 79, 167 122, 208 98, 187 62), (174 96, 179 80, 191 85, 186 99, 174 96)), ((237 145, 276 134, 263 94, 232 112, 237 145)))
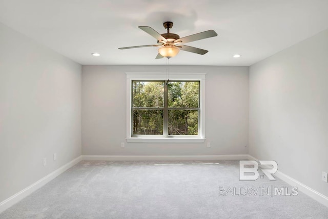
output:
POLYGON ((250 154, 328 196, 328 30, 250 67, 250 154))

